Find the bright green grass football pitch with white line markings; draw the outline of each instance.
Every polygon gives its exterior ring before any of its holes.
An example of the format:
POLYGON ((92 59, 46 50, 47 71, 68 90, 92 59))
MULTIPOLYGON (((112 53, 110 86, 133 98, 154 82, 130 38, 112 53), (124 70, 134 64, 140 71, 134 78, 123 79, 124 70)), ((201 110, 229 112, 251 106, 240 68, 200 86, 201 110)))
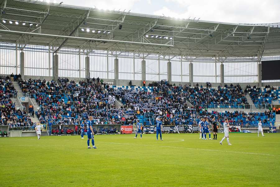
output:
POLYGON ((280 186, 280 136, 265 135, 0 138, 0 186, 280 186))

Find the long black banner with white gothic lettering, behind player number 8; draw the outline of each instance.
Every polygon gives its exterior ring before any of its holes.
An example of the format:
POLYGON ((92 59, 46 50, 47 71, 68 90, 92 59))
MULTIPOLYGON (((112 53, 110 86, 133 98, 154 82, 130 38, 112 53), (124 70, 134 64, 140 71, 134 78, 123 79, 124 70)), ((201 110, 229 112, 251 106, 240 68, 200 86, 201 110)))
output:
MULTIPOLYGON (((146 133, 155 133, 156 132, 156 126, 145 126, 145 132, 146 133)), ((162 132, 164 133, 195 133, 199 132, 198 126, 192 126, 192 125, 175 125, 175 126, 163 126, 162 132)))

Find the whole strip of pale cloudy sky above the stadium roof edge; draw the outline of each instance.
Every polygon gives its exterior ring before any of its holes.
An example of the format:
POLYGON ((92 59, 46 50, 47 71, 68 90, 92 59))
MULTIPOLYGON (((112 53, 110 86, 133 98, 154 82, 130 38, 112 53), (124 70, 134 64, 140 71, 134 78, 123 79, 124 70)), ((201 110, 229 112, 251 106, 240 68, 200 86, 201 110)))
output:
POLYGON ((230 23, 280 22, 280 0, 56 0, 61 1, 69 5, 175 18, 230 23))

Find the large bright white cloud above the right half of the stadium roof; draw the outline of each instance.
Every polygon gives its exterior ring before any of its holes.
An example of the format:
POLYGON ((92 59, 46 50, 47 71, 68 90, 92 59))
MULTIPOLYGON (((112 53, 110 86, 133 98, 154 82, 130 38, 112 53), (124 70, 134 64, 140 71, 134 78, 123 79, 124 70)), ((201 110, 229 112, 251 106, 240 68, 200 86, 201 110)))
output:
POLYGON ((166 0, 172 7, 161 7, 156 15, 199 18, 209 21, 233 23, 270 23, 280 21, 280 2, 263 0, 166 0), (177 5, 177 6, 176 6, 177 5), (179 7, 179 8, 178 8, 179 7))

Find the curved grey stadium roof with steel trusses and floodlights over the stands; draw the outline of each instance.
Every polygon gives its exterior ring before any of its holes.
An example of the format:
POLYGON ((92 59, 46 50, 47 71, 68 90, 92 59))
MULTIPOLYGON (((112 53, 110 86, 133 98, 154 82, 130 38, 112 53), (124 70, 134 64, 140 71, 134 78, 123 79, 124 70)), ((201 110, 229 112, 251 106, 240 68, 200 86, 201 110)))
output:
POLYGON ((280 23, 175 19, 40 0, 0 0, 0 5, 1 41, 19 47, 49 46, 52 52, 68 47, 87 54, 93 50, 106 50, 114 55, 133 52, 170 59, 178 55, 216 58, 280 55, 280 23))

